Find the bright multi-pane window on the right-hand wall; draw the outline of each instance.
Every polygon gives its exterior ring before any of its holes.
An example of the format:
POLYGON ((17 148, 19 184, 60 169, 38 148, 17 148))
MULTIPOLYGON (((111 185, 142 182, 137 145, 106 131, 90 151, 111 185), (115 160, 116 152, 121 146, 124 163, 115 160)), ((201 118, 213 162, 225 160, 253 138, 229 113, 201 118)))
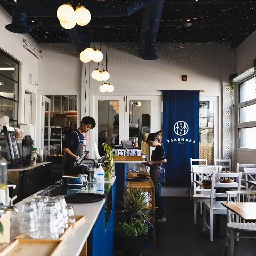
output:
POLYGON ((255 80, 250 78, 238 85, 238 147, 256 149, 255 80))

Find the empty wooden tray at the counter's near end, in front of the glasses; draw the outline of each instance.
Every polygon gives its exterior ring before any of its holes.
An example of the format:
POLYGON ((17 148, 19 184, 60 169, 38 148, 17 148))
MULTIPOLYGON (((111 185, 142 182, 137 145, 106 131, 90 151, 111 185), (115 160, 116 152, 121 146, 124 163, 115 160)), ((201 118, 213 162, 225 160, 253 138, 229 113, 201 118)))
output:
POLYGON ((61 240, 54 239, 17 239, 6 247, 0 256, 54 256, 54 251, 60 245, 61 240))

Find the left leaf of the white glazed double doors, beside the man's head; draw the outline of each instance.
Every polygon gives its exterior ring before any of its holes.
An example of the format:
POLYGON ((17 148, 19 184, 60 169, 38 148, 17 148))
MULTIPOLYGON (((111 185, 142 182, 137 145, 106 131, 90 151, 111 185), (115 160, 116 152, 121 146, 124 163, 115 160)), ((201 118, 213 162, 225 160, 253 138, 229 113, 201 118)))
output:
POLYGON ((95 119, 96 126, 89 133, 89 151, 92 152, 93 157, 92 144, 98 143, 98 135, 101 131, 107 131, 107 143, 113 142, 119 145, 121 140, 124 140, 124 113, 124 96, 93 96, 93 111, 90 110, 90 116, 95 119))

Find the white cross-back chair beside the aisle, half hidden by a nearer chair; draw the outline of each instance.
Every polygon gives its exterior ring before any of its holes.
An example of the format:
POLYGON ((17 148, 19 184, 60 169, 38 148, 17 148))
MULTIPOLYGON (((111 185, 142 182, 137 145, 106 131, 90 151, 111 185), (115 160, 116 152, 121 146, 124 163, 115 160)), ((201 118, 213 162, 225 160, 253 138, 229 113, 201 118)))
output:
MULTIPOLYGON (((193 166, 193 174, 194 174, 194 181, 195 180, 203 180, 203 177, 210 177, 212 175, 212 172, 217 172, 218 167, 200 167, 200 166, 193 166), (199 178, 199 179, 198 179, 199 178)), ((200 213, 202 214, 202 203, 206 200, 210 200, 210 194, 211 190, 210 189, 202 189, 201 186, 197 185, 194 182, 194 224, 196 225, 196 211, 197 211, 197 203, 200 204, 200 213), (199 194, 197 193, 199 192, 199 194)))

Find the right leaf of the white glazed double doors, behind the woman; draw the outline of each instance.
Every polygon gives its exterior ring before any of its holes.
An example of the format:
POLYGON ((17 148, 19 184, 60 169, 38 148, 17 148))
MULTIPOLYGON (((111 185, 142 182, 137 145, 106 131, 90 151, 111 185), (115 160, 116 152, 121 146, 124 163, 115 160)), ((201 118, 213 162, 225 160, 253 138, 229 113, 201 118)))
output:
MULTIPOLYGON (((159 113, 160 115, 160 113, 159 113)), ((127 96, 125 99, 125 140, 140 147, 147 135, 156 132, 156 96, 127 96)))

